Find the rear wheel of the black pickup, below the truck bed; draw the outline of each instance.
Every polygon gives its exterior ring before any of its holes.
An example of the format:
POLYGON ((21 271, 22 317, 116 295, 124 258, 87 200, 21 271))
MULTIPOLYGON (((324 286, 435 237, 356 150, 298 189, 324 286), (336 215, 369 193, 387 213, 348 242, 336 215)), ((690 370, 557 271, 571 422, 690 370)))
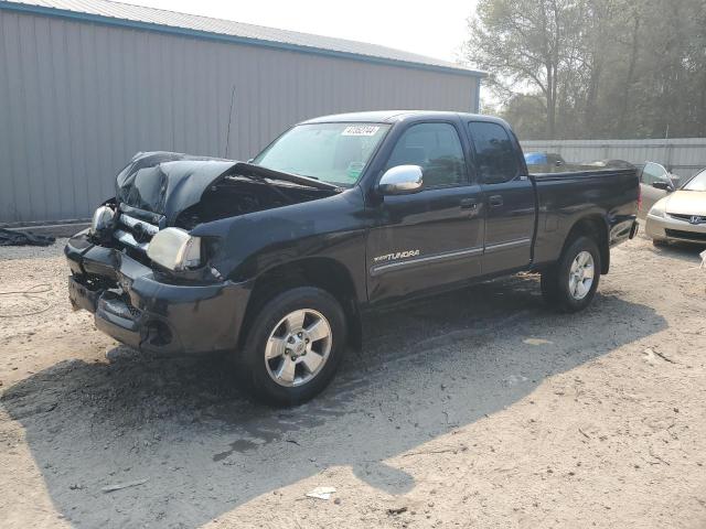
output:
POLYGON ((559 260, 542 272, 544 300, 559 312, 582 311, 598 289, 600 266, 596 241, 585 236, 577 237, 564 249, 559 260), (592 269, 590 278, 589 268, 592 269))

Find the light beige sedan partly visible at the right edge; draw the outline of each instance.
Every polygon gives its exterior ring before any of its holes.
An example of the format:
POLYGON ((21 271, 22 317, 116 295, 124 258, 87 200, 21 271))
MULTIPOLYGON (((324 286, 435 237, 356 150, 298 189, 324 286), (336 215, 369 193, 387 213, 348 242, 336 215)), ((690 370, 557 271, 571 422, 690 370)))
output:
MULTIPOLYGON (((668 191, 661 182, 652 185, 668 191)), ((645 231, 655 246, 670 241, 706 245, 706 169, 650 208, 645 231)))

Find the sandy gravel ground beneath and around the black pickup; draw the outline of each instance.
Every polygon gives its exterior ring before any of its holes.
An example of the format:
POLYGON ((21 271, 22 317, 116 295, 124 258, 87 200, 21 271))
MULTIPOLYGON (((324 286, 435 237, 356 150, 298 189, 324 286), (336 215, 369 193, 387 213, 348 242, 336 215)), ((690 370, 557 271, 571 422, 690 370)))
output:
POLYGON ((698 249, 622 245, 581 314, 521 276, 377 315, 272 410, 95 331, 62 247, 0 249, 3 528, 706 527, 698 249))

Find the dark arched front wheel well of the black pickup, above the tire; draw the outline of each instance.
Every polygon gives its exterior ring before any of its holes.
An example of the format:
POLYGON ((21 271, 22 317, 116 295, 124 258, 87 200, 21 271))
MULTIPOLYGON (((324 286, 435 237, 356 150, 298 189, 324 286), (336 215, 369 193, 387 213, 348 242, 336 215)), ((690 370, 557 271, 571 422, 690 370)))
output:
POLYGON ((317 287, 333 295, 345 312, 349 342, 361 346, 363 332, 353 279, 343 264, 327 258, 292 261, 263 272, 255 281, 245 311, 240 341, 246 338, 252 320, 269 300, 297 287, 317 287))

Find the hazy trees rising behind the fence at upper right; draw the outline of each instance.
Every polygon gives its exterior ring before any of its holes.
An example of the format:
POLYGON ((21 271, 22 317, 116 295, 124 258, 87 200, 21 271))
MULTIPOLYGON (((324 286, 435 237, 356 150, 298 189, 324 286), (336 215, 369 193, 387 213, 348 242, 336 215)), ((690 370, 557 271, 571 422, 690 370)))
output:
POLYGON ((706 137, 704 0, 480 0, 469 31, 524 138, 706 137))

